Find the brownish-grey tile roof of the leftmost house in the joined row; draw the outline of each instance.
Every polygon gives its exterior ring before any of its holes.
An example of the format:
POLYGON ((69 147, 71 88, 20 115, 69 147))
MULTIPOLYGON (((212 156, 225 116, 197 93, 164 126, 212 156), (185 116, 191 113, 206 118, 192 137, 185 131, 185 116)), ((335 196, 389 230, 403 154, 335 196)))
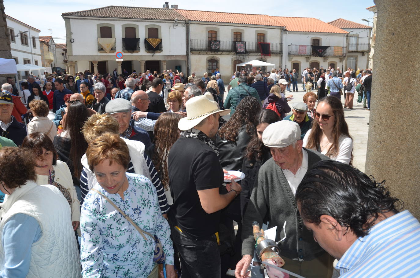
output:
POLYGON ((107 6, 92 10, 81 10, 77 12, 62 13, 62 16, 83 16, 83 17, 110 17, 110 18, 143 18, 160 20, 184 20, 185 18, 174 9, 165 8, 142 8, 107 6))

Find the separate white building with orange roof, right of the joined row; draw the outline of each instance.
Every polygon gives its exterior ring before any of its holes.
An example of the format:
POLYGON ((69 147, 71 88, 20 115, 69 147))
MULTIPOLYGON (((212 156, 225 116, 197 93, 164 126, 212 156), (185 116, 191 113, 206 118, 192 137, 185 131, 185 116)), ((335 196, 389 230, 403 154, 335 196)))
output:
MULTIPOLYGON (((369 67, 370 31, 372 27, 343 18, 328 22, 348 32, 347 55, 344 69, 357 70, 369 67)), ((344 71, 343 71, 344 72, 344 71)))

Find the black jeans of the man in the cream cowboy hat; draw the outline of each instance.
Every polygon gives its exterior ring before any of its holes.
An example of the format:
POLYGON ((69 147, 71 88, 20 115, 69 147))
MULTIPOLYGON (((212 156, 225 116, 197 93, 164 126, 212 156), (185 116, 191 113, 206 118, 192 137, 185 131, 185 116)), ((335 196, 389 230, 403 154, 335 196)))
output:
POLYGON ((172 228, 171 236, 181 261, 182 278, 220 278, 220 252, 215 235, 190 239, 172 228))

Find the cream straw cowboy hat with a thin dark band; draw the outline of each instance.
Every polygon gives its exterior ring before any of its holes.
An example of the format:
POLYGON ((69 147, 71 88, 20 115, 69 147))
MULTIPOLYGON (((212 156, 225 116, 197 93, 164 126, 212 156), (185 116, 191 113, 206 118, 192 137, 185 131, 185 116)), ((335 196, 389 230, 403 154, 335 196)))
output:
POLYGON ((230 113, 230 109, 219 110, 217 102, 210 93, 192 97, 185 102, 187 116, 178 122, 178 129, 189 130, 197 126, 202 120, 210 115, 219 113, 220 116, 230 113))

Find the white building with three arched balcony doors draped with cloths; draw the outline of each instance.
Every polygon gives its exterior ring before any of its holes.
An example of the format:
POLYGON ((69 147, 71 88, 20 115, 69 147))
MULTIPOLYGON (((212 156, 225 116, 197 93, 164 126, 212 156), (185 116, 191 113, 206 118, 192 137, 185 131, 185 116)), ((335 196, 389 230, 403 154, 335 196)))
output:
POLYGON ((173 9, 108 6, 62 16, 71 74, 186 71, 185 18, 173 9), (116 52, 123 61, 116 61, 116 52))

